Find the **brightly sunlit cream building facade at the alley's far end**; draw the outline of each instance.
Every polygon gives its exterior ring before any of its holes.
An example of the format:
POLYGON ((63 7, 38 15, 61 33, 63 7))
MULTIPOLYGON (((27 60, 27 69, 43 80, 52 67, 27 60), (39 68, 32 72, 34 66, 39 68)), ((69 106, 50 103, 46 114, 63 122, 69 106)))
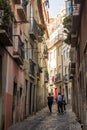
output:
MULTIPOLYGON (((51 18, 49 23, 50 40, 48 43, 49 59, 49 86, 50 90, 55 89, 58 92, 63 92, 63 61, 62 61, 62 45, 63 45, 63 17, 65 15, 65 8, 58 13, 56 18, 51 18)), ((58 93, 57 92, 57 93, 58 93)))

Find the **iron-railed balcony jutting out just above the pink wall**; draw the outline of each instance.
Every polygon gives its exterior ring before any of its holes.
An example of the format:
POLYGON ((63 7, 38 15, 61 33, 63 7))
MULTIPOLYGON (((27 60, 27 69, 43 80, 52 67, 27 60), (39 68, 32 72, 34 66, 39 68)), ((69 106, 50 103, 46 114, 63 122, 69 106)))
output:
POLYGON ((18 65, 23 65, 23 59, 24 59, 24 51, 22 48, 22 41, 20 39, 19 35, 13 36, 13 42, 14 42, 14 52, 13 52, 13 58, 17 62, 18 65))

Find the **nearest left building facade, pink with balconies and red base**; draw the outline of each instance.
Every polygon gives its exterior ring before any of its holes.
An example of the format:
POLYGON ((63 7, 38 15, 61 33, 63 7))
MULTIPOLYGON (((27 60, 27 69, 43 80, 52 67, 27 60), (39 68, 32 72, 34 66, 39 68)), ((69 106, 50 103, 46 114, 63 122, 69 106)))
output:
MULTIPOLYGON (((6 8, 9 8, 8 10, 4 10, 4 8, 1 7, 1 11, 3 12, 5 19, 2 17, 0 25, 0 43, 2 43, 0 44, 2 104, 2 110, 0 114, 0 129, 6 130, 11 124, 23 119, 24 51, 22 46, 24 44, 24 25, 20 24, 20 22, 26 22, 26 14, 24 7, 22 6, 22 4, 25 4, 24 1, 1 2, 3 7, 6 6, 6 8), (7 24, 6 18, 9 16, 6 16, 6 13, 8 13, 9 10, 11 12, 11 9, 14 12, 15 20, 14 22, 9 20, 9 23, 7 24)), ((12 13, 8 15, 12 15, 12 13)))

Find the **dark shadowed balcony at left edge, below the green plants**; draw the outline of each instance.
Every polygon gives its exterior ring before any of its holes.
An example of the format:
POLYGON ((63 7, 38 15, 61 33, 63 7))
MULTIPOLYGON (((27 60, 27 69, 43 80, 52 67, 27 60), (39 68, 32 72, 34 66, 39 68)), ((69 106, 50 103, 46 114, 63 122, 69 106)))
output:
POLYGON ((0 25, 0 44, 3 46, 13 46, 12 27, 0 25))

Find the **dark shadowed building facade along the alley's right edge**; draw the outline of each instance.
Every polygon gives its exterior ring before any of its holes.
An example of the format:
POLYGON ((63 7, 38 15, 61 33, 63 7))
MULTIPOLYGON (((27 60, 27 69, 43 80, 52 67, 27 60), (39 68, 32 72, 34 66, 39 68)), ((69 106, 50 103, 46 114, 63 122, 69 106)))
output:
POLYGON ((71 35, 72 106, 84 130, 87 129, 87 1, 73 0, 71 35), (78 21, 78 22, 77 22, 78 21))

